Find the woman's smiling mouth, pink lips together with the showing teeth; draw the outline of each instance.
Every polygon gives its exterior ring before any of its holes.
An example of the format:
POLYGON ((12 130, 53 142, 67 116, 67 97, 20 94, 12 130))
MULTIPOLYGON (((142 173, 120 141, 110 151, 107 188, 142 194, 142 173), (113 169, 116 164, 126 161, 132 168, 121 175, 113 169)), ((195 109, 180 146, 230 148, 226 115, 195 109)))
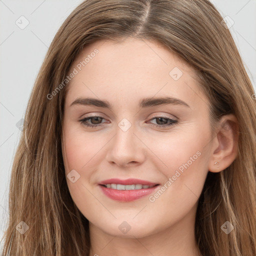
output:
POLYGON ((152 193, 159 184, 147 180, 129 178, 125 180, 111 178, 99 183, 101 191, 107 197, 118 201, 132 201, 152 193))

